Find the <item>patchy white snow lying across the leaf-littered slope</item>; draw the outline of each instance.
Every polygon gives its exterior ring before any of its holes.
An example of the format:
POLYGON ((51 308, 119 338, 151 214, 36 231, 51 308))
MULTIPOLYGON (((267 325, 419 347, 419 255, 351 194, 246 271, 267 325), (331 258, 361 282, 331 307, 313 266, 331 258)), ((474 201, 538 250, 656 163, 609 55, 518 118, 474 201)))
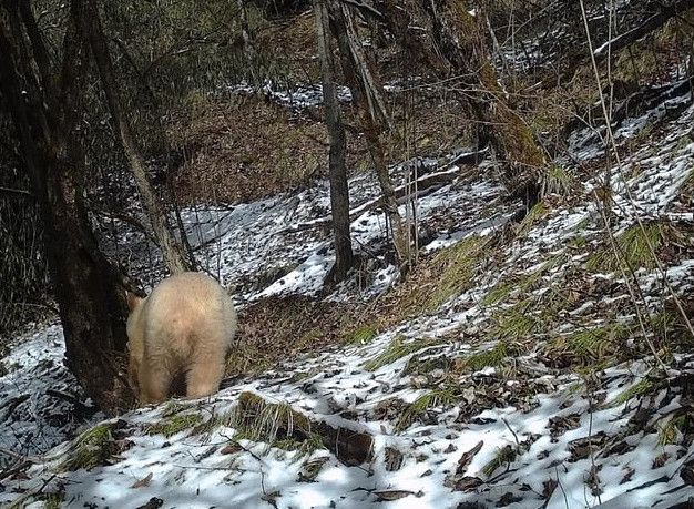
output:
MULTIPOLYGON (((692 172, 693 115, 694 108, 690 106, 669 123, 669 134, 657 146, 644 146, 622 161, 625 176, 615 177, 614 186, 616 232, 634 224, 634 211, 642 217, 664 217, 680 207, 680 186, 692 172), (634 166, 637 172, 631 171, 634 166)), ((599 146, 583 146, 579 157, 600 155, 599 146)), ((372 196, 375 185, 367 177, 359 179, 351 185, 353 190, 365 191, 360 195, 364 202, 372 196)), ((583 193, 590 196, 594 185, 588 182, 583 193)), ((439 233, 430 246, 440 248, 470 235, 488 235, 513 211, 512 206, 500 207, 496 201, 500 193, 500 187, 491 182, 458 181, 421 198, 425 225, 439 233), (491 220, 484 213, 490 210, 498 211, 491 220), (451 216, 455 221, 450 221, 451 216)), ((293 233, 287 227, 326 213, 327 192, 319 185, 289 200, 280 196, 232 210, 188 211, 186 221, 207 225, 196 230, 201 232, 197 241, 206 243, 208 255, 218 253, 218 258, 211 258, 211 266, 220 267, 227 284, 253 277, 268 264, 294 266, 283 276, 284 284, 280 278, 266 288, 247 287, 244 298, 252 299, 259 292, 316 292, 331 259, 329 237, 318 231, 293 233)), ((677 217, 692 221, 683 215, 677 217)), ((364 243, 384 242, 381 222, 378 213, 366 212, 353 222, 353 232, 364 243)), ((541 298, 548 287, 563 284, 570 271, 580 271, 585 263, 583 255, 571 256, 567 245, 578 235, 594 242, 599 232, 600 212, 590 200, 560 203, 533 223, 525 237, 502 250, 503 259, 493 273, 478 275, 469 289, 437 313, 400 324, 367 345, 346 346, 286 363, 257 379, 233 383, 210 400, 177 410, 204 419, 222 416, 235 407, 242 391, 251 391, 269 403, 289 404, 316 420, 370 434, 374 458, 367 464, 344 465, 326 449, 300 457, 297 451, 269 447, 243 435, 234 438, 236 430, 228 420, 207 434, 193 434, 190 428, 169 438, 149 434, 153 423, 169 418, 164 414, 170 410, 164 406, 135 410, 113 421, 118 423, 114 427, 119 429, 119 440, 132 442, 118 454, 113 465, 61 471, 58 467, 68 457, 64 455, 70 446, 59 446, 27 476, 0 480, 0 503, 21 497, 31 501, 34 491, 58 490, 64 491, 65 507, 94 508, 139 507, 147 502, 156 507, 153 499, 161 499, 167 508, 384 505, 572 509, 669 508, 685 502, 694 497, 687 477, 694 468, 694 446, 677 440, 680 428, 670 425, 691 414, 691 355, 676 356, 672 369, 660 377, 653 371, 652 358, 622 363, 586 377, 548 368, 537 352, 512 356, 516 370, 510 374, 502 373, 501 367, 487 367, 451 378, 445 369, 423 374, 410 369, 415 363, 429 358, 463 358, 493 348, 493 344, 474 340, 476 330, 490 326, 493 311, 482 304, 489 289, 561 255, 561 263, 551 265, 542 275, 547 284, 531 294, 531 298, 541 298), (428 339, 422 343, 422 338, 428 339), (367 365, 379 359, 396 340, 415 348, 378 365, 367 365), (644 383, 651 389, 642 397, 644 383), (451 386, 462 394, 462 399, 452 405, 445 403, 443 394, 451 386), (433 400, 411 421, 399 426, 402 411, 412 408, 408 405, 420 401, 432 387, 441 389, 443 403, 433 400), (667 438, 667 429, 675 434, 674 438, 667 438), (233 440, 241 447, 227 454, 224 447, 233 440), (478 445, 479 451, 463 461, 466 452, 478 445), (399 468, 391 464, 392 450, 401 455, 399 468), (306 481, 303 474, 309 464, 323 464, 314 481, 306 481)), ((694 286, 693 269, 694 262, 682 259, 667 267, 666 276, 675 289, 684 292, 694 286)), ((663 295, 659 283, 662 274, 656 269, 640 271, 637 275, 647 302, 663 295)), ((619 274, 591 277, 620 282, 619 274)), ((605 295, 601 302, 576 303, 575 308, 562 313, 594 319, 596 324, 606 322, 603 309, 609 309, 605 306, 614 299, 605 295)), ((619 319, 633 320, 633 316, 619 319)), ((571 324, 568 320, 558 333, 569 334, 571 324)), ((47 378, 47 370, 38 366, 41 359, 55 360, 61 356, 59 328, 38 333, 31 342, 18 346, 6 362, 16 359, 24 367, 0 379, 0 387, 8 390, 4 387, 18 384, 12 380, 21 377, 31 378, 32 384, 54 384, 47 378), (45 345, 39 353, 33 350, 35 342, 45 345), (29 352, 35 357, 29 359, 29 352)), ((53 364, 49 370, 68 377, 60 365, 53 364)), ((61 379, 70 384, 69 378, 61 379)), ((41 394, 47 387, 27 385, 23 390, 41 394)), ((49 426, 40 414, 34 419, 49 426)), ((7 426, 6 420, 2 437, 7 436, 7 426)), ((74 427, 55 429, 47 436, 55 442, 62 434, 73 430, 74 427)))

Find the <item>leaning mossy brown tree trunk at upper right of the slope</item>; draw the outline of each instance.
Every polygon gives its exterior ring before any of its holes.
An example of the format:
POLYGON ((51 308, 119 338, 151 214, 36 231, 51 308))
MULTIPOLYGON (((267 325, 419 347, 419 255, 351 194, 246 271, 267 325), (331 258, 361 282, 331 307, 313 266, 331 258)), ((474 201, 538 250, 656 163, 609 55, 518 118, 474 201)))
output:
POLYGON ((506 164, 504 185, 509 194, 532 206, 544 176, 544 155, 530 126, 509 105, 499 84, 488 50, 483 6, 478 4, 477 14, 472 16, 465 2, 457 0, 416 0, 406 7, 399 3, 377 2, 388 29, 400 45, 430 65, 437 75, 459 75, 470 89, 466 100, 479 125, 479 145, 490 144, 506 164), (428 18, 430 40, 421 30, 411 28, 414 9, 428 18))

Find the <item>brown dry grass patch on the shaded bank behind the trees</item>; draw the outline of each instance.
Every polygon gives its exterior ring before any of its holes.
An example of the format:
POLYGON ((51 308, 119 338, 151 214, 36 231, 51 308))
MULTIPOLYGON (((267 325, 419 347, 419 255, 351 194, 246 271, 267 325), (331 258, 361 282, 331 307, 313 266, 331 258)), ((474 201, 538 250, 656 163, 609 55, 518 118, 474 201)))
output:
POLYGON ((190 124, 171 129, 186 155, 173 176, 182 203, 258 200, 307 184, 327 162, 324 128, 278 105, 238 96, 198 108, 190 124))

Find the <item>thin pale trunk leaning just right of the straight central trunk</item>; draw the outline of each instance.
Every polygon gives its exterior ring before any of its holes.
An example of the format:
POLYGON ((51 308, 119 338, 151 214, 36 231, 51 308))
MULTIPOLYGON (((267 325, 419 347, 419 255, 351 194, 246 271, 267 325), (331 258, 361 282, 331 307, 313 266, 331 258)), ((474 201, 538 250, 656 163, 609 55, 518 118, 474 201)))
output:
POLYGON ((382 124, 387 122, 382 91, 366 62, 359 41, 356 40, 349 8, 336 0, 327 0, 327 6, 331 17, 331 29, 340 51, 343 72, 357 105, 359 122, 384 195, 384 208, 390 223, 396 257, 398 263, 402 265, 408 259, 409 245, 405 235, 402 218, 398 212, 392 182, 388 174, 388 164, 381 140, 382 124))

